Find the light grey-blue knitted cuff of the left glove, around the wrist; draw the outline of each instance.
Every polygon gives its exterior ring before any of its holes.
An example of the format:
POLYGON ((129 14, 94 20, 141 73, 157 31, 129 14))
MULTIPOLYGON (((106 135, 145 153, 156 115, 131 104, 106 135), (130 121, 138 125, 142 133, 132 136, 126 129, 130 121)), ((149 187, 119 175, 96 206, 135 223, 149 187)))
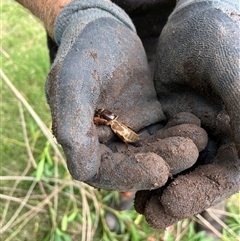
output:
POLYGON ((113 18, 132 31, 136 29, 129 16, 116 4, 104 0, 75 0, 69 3, 57 16, 54 23, 54 37, 58 45, 65 29, 71 22, 82 30, 88 23, 99 18, 113 18))

